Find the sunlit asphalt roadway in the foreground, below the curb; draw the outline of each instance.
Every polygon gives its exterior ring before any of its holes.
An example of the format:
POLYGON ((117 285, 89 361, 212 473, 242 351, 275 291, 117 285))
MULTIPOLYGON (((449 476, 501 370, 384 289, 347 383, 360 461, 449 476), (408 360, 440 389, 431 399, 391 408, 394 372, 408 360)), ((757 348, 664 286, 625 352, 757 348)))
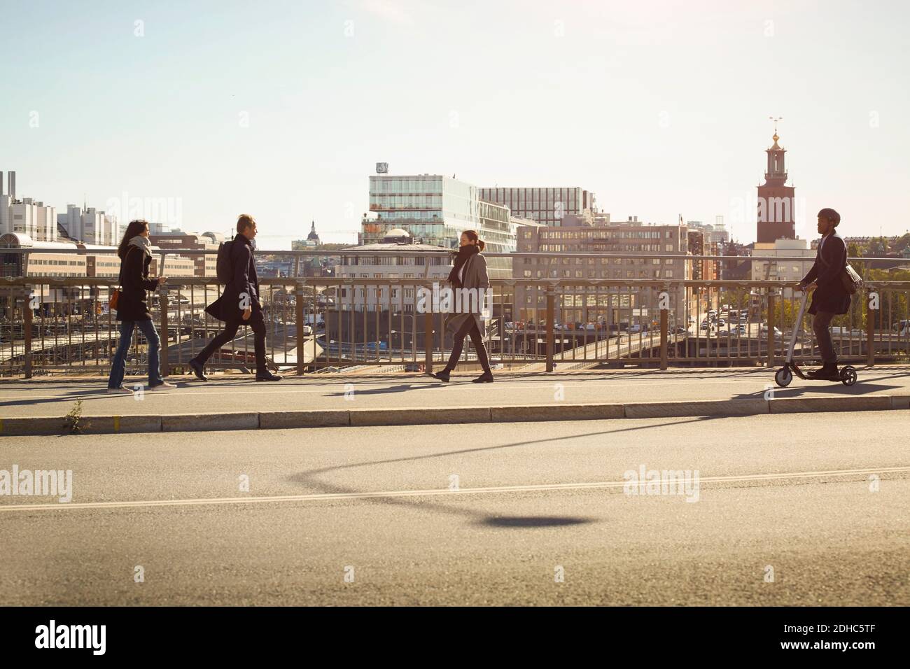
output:
POLYGON ((905 431, 886 411, 9 439, 0 469, 71 470, 73 498, 0 497, 0 604, 906 605, 905 431), (642 465, 698 470, 697 502, 623 492, 642 465))

